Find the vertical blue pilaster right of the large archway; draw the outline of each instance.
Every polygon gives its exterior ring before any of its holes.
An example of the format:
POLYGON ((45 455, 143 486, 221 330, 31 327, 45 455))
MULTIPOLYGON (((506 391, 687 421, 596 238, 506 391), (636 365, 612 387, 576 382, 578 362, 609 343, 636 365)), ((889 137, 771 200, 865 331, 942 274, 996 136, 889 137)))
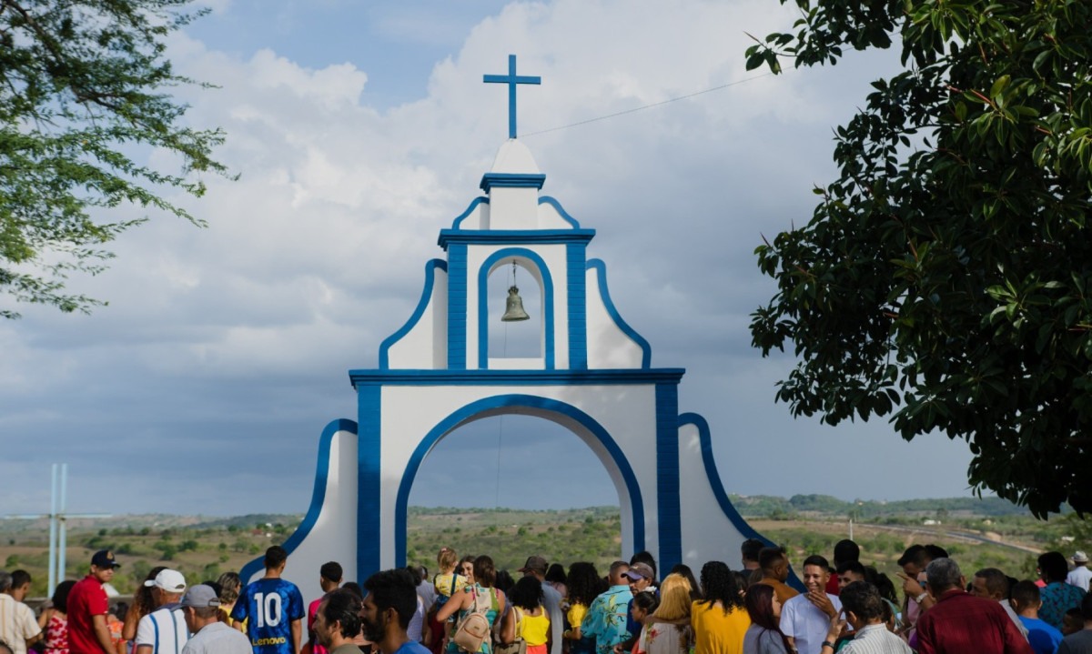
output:
POLYGON ((682 562, 678 415, 678 384, 656 384, 656 513, 664 570, 682 562))

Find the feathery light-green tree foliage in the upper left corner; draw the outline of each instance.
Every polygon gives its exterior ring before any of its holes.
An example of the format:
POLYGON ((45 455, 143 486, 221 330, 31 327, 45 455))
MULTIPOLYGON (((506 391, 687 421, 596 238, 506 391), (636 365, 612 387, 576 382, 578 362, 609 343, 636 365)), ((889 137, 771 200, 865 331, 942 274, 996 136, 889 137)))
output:
MULTIPOLYGON (((165 37, 200 12, 190 0, 0 0, 0 293, 15 301, 88 311, 67 295, 72 272, 97 273, 102 249, 142 219, 104 222, 122 203, 201 221, 165 189, 201 195, 219 130, 194 130, 166 91, 165 37), (141 163, 136 146, 179 158, 176 173, 141 163), (94 215, 93 215, 94 214, 94 215)), ((0 307, 0 317, 17 318, 0 307)))

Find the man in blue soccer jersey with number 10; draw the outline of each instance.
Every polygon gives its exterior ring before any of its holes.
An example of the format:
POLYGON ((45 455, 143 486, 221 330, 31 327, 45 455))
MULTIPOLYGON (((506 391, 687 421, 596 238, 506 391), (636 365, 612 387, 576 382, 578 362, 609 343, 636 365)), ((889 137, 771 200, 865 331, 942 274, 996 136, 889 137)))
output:
POLYGON ((304 596, 290 581, 281 579, 288 552, 280 545, 265 550, 265 576, 242 590, 232 619, 247 621, 246 632, 254 654, 299 654, 304 596))

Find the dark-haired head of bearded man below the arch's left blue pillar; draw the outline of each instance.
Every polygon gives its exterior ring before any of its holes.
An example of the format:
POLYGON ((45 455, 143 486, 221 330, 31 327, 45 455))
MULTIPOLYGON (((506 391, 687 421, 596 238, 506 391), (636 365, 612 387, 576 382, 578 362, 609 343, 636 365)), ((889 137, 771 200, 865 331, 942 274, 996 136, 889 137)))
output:
MULTIPOLYGON (((417 584, 410 572, 383 570, 369 576, 364 587, 368 591, 360 607, 364 638, 383 654, 429 654, 425 645, 411 640, 406 633, 410 618, 417 609, 417 584)), ((346 654, 331 650, 331 654, 346 654)))

